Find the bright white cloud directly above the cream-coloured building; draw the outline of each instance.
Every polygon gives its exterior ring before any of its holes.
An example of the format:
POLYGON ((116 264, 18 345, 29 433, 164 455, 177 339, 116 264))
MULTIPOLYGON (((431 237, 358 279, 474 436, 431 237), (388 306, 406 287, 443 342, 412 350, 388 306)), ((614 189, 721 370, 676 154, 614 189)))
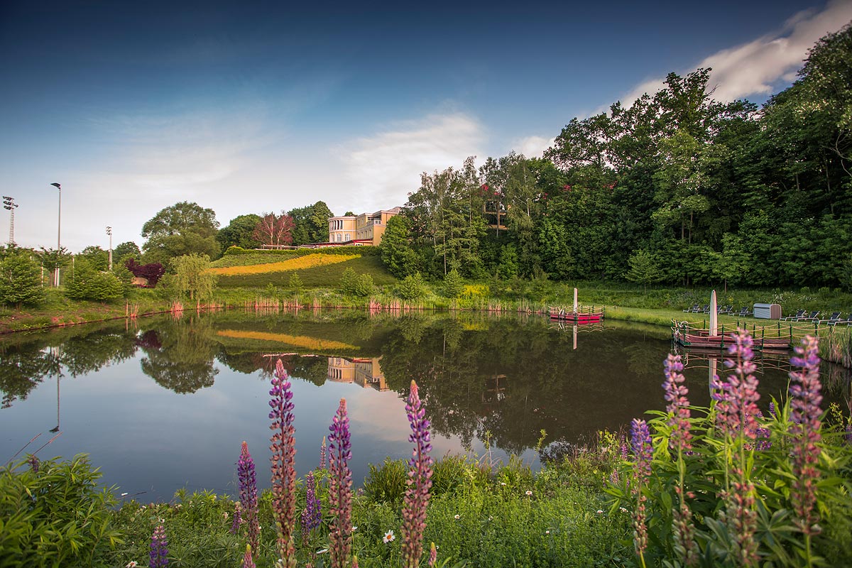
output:
POLYGON ((420 186, 421 173, 460 166, 481 152, 484 141, 481 124, 462 113, 398 123, 360 138, 343 149, 347 208, 361 213, 405 204, 406 194, 420 186))

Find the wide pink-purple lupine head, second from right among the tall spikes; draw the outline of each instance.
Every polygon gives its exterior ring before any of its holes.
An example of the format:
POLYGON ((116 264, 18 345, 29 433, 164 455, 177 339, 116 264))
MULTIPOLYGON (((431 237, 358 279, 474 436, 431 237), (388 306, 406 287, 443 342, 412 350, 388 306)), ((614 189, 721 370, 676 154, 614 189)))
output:
POLYGON ((731 334, 733 343, 728 347, 728 353, 733 359, 725 359, 725 366, 733 368, 726 382, 715 382, 717 392, 713 393, 716 404, 716 422, 723 433, 737 437, 740 433, 749 439, 757 437, 757 378, 754 376, 756 366, 751 360, 754 352, 751 350, 751 336, 746 330, 737 330, 731 334))

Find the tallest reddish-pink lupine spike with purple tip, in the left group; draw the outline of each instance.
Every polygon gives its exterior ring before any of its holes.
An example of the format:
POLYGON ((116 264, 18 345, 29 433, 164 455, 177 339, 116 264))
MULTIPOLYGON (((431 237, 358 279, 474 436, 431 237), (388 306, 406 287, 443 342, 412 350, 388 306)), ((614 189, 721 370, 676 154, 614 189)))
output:
POLYGON ((293 393, 290 377, 281 359, 275 364, 272 378, 272 399, 269 406, 269 429, 273 431, 272 445, 272 493, 275 525, 278 528, 278 551, 285 568, 296 566, 296 544, 293 532, 296 529, 296 428, 293 427, 293 393))

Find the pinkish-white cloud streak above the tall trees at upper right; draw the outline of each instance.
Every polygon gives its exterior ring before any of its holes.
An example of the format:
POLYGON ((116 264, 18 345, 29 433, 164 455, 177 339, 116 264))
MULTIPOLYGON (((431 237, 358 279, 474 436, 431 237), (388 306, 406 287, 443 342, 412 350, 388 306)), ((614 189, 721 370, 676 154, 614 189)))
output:
MULTIPOLYGON (((736 100, 749 95, 769 95, 778 83, 790 83, 810 49, 826 33, 837 32, 852 20, 852 3, 833 0, 821 12, 804 10, 795 14, 780 32, 758 37, 702 60, 696 67, 711 67, 713 98, 736 100)), ((663 79, 650 79, 621 98, 625 106, 663 87, 663 79)))

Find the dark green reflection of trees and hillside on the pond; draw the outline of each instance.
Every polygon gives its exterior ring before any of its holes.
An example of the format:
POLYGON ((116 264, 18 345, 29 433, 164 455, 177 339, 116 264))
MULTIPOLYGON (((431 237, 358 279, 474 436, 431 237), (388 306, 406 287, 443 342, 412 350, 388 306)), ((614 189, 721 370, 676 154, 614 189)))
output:
MULTIPOLYGON (((159 385, 195 393, 213 386, 217 365, 268 381, 280 358, 294 380, 317 386, 330 380, 355 382, 390 388, 405 399, 413 379, 435 433, 458 437, 465 447, 488 437, 499 449, 520 454, 535 447, 542 429, 548 442, 576 443, 662 408, 662 362, 671 350, 663 328, 637 333, 611 322, 601 332, 580 333, 575 350, 572 330, 551 329, 545 318, 479 313, 332 311, 258 317, 227 312, 148 318, 140 324, 142 330, 104 324, 4 338, 3 407, 26 399, 63 367, 66 376, 84 376, 136 356, 142 372, 159 385), (229 333, 217 333, 222 330, 229 333), (250 333, 257 331, 266 333, 250 333), (286 343, 296 340, 299 345, 286 343), (340 344, 350 351, 305 347, 340 344), (57 356, 50 347, 59 347, 57 356), (337 360, 338 370, 330 358, 337 360), (337 376, 343 367, 353 376, 337 376)), ((823 366, 826 390, 847 406, 849 371, 838 369, 823 366)), ((706 364, 691 371, 687 377, 696 404, 705 404, 706 364)), ((786 372, 773 373, 767 371, 761 383, 764 392, 777 396, 786 391, 786 372)))

